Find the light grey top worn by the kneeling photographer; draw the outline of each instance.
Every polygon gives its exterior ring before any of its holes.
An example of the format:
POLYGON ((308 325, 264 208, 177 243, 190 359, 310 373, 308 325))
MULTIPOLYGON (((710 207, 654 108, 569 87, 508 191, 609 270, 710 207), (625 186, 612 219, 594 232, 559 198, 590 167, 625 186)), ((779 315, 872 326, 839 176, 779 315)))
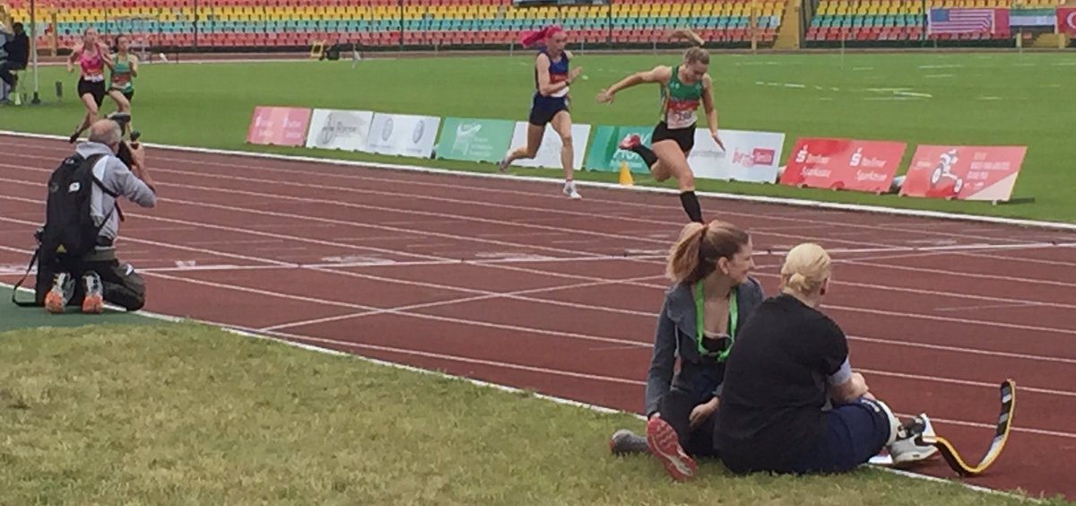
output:
MULTIPOLYGON (((98 142, 84 142, 79 144, 75 152, 86 158, 94 155, 105 155, 94 166, 94 175, 112 193, 122 195, 143 208, 152 208, 157 205, 157 195, 153 189, 134 175, 112 153, 109 146, 98 142)), ((119 213, 113 212, 115 208, 116 199, 101 192, 101 188, 95 184, 93 194, 90 194, 89 213, 94 216, 94 222, 98 225, 100 225, 104 216, 109 216, 109 221, 101 227, 100 235, 110 241, 115 240, 119 233, 119 213), (111 215, 109 215, 110 212, 112 213, 111 215)))

